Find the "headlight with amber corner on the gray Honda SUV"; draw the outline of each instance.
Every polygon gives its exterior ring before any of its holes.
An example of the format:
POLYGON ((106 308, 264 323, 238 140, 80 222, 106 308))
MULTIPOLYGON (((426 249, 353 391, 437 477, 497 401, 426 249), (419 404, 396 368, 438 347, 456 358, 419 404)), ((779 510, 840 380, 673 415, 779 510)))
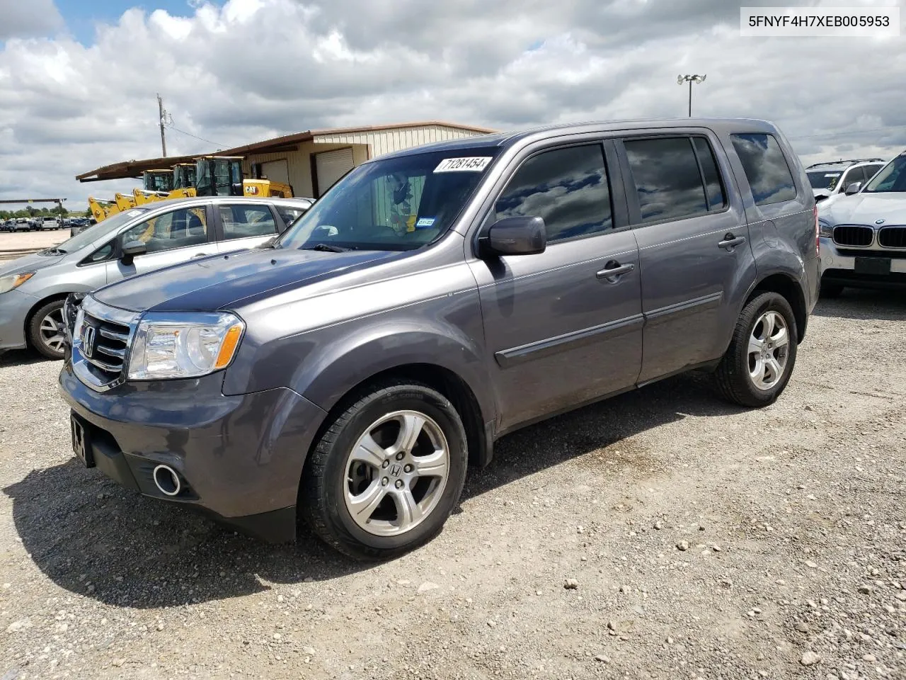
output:
POLYGON ((246 325, 232 314, 149 314, 136 329, 130 380, 195 378, 226 368, 246 325))

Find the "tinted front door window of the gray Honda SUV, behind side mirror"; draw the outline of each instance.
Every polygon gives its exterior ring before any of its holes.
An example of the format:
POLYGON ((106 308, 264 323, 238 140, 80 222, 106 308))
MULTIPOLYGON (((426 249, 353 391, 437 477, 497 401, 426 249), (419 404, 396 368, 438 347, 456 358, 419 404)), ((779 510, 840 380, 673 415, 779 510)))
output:
POLYGON ((496 219, 545 220, 547 240, 613 227, 611 191, 600 144, 545 151, 526 160, 497 199, 496 219))

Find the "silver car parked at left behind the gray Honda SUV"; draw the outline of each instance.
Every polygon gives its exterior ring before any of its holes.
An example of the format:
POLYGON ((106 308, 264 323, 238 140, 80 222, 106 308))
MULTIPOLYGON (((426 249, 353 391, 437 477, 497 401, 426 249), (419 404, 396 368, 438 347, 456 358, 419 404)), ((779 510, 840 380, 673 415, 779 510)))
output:
POLYGON ((219 252, 255 248, 311 199, 206 197, 145 204, 0 266, 0 352, 31 346, 63 358, 63 301, 121 278, 219 252))

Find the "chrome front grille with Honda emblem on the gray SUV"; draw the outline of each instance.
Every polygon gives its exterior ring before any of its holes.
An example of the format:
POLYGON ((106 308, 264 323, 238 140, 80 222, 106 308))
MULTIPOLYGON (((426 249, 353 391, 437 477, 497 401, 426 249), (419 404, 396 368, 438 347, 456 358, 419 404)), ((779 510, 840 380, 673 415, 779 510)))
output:
POLYGON ((88 296, 72 338, 72 367, 83 383, 109 390, 126 379, 130 341, 138 315, 88 296))

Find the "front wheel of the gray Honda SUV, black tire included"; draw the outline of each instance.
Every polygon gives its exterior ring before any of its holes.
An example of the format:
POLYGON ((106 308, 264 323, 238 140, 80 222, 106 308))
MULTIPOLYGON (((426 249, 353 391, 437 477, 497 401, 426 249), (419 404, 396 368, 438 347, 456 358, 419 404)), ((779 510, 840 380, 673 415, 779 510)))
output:
MULTIPOLYGON (((409 381, 391 380, 371 385, 342 413, 334 415, 323 429, 305 465, 299 490, 301 516, 315 534, 349 557, 396 558, 439 534, 462 493, 467 453, 462 420, 442 394, 427 385, 409 381), (400 412, 419 413, 427 418, 423 425, 408 429, 408 432, 419 432, 413 446, 400 443, 404 440, 402 423, 407 417, 397 415, 400 412), (371 436, 372 443, 379 444, 371 447, 376 455, 366 456, 369 462, 354 461, 353 449, 365 451, 357 446, 365 435, 371 436), (419 476, 415 465, 441 461, 439 447, 444 444, 446 481, 441 482, 442 473, 419 476), (435 458, 425 458, 426 453, 435 458), (401 460, 397 458, 400 455, 401 460), (407 477, 410 468, 413 472, 407 477), (352 497, 373 502, 353 501, 352 497), (416 503, 409 505, 410 518, 416 516, 416 510, 419 514, 423 512, 418 521, 410 522, 408 529, 400 511, 403 497, 416 503), (359 520, 352 515, 354 502, 363 509, 357 513, 359 520)), ((437 462, 434 467, 439 469, 439 465, 437 462)))

